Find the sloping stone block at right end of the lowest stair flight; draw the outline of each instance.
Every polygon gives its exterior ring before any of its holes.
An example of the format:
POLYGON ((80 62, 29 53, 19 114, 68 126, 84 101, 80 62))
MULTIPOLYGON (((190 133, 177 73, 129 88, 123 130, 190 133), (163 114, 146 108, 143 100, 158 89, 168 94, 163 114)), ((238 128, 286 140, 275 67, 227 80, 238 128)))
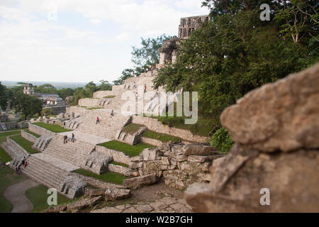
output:
POLYGON ((84 187, 86 182, 79 177, 69 175, 60 185, 60 192, 67 195, 67 197, 74 199, 75 197, 84 194, 84 187))

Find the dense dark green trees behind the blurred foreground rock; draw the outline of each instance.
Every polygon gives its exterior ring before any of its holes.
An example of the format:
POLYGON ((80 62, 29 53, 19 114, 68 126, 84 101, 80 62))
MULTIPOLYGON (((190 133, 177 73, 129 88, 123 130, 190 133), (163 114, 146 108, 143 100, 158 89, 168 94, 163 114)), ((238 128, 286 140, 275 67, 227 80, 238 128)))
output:
POLYGON ((260 20, 257 4, 210 2, 219 7, 212 9, 213 21, 181 42, 177 63, 155 79, 155 88, 198 90, 201 116, 218 116, 252 89, 319 60, 315 38, 305 34, 293 42, 282 35, 281 23, 260 20))

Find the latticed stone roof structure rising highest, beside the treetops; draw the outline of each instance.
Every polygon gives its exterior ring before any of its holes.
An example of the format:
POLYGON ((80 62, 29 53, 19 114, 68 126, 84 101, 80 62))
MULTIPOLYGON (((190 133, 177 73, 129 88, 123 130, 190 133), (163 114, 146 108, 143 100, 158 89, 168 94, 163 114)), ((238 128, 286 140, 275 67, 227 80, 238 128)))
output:
POLYGON ((208 15, 181 18, 181 23, 179 23, 179 38, 189 38, 191 33, 198 29, 201 26, 201 23, 206 21, 211 21, 211 18, 208 15))

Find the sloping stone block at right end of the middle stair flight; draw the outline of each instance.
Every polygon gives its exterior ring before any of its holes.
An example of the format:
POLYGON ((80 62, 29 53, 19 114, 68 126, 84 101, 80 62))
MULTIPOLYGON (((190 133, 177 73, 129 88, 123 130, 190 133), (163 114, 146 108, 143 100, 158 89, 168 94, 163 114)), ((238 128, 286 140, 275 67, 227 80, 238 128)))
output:
POLYGON ((112 160, 113 158, 110 155, 94 151, 85 157, 82 166, 96 175, 101 175, 108 171, 108 163, 112 160))

